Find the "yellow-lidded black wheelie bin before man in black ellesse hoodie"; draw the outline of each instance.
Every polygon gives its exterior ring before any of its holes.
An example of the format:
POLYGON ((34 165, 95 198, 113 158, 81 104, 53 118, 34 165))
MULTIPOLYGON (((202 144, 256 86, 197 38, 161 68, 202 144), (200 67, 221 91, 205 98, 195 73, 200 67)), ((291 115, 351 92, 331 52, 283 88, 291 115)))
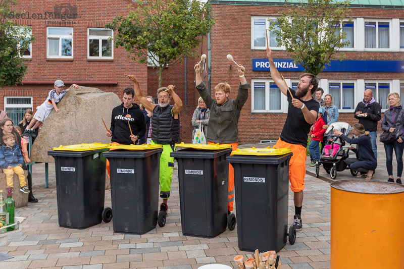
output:
MULTIPOLYGON (((106 158, 109 144, 54 147, 59 226, 84 229, 103 220, 106 158)), ((110 221, 111 219, 109 219, 110 221)), ((104 221, 108 222, 108 220, 104 221)))

